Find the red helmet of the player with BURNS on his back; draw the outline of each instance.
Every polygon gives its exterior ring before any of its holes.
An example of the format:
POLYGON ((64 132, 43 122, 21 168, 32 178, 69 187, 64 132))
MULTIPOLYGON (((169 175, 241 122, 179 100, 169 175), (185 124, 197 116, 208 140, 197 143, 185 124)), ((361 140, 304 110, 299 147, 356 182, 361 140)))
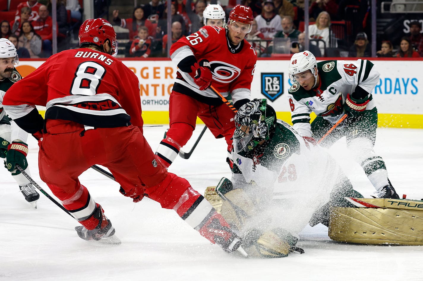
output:
POLYGON ((80 46, 83 43, 92 43, 99 47, 109 39, 112 55, 118 54, 116 32, 110 22, 105 19, 87 19, 80 27, 79 39, 80 46))

